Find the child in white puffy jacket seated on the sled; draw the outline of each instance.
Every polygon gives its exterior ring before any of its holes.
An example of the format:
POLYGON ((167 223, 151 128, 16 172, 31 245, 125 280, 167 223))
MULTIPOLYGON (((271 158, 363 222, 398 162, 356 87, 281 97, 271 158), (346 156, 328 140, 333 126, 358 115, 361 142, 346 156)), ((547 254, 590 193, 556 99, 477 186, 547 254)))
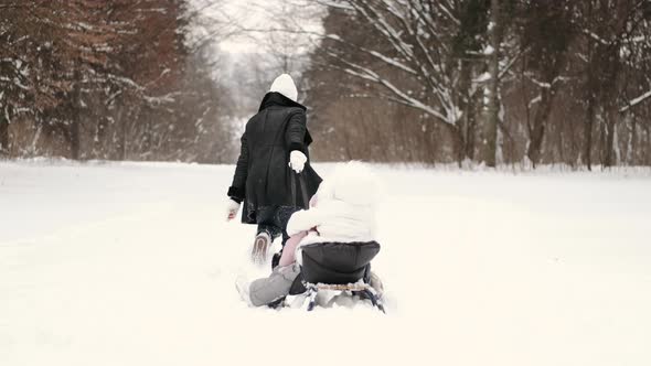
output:
MULTIPOLYGON (((291 238, 285 245, 280 261, 271 274, 250 284, 238 283, 244 300, 260 306, 286 297, 300 272, 302 246, 314 243, 375 241, 376 195, 376 181, 364 164, 349 162, 338 166, 321 183, 310 202, 310 209, 291 215, 287 224, 287 234, 291 238)), ((380 287, 374 274, 371 284, 380 287)))

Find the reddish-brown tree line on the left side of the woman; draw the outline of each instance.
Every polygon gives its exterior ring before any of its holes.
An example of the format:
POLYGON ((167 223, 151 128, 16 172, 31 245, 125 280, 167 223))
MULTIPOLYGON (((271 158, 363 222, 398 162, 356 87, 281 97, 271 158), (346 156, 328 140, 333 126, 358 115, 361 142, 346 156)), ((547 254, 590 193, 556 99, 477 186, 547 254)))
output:
POLYGON ((1 0, 0 155, 225 161, 230 105, 181 0, 1 0))

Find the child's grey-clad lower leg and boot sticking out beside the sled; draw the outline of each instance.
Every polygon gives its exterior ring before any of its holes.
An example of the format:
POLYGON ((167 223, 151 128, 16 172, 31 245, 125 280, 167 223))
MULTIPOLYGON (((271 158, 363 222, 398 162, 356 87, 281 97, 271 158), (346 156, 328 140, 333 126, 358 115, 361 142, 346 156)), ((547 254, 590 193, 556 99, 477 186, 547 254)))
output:
POLYGON ((260 278, 250 283, 250 302, 256 306, 269 304, 289 294, 291 283, 300 273, 297 263, 287 267, 276 267, 267 278, 260 278))

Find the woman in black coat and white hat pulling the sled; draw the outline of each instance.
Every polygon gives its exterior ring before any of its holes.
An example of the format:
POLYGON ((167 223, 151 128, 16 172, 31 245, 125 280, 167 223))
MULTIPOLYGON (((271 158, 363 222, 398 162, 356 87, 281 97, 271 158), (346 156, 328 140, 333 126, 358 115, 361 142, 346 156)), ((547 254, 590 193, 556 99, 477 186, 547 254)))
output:
MULTIPOLYGON (((257 224, 253 260, 264 262, 274 238, 287 241, 291 214, 308 208, 321 177, 309 163, 312 142, 306 107, 297 103, 291 76, 274 80, 258 112, 246 123, 233 184, 228 189, 228 219, 244 202, 242 222, 257 224)), ((275 263, 273 263, 275 266, 275 263)))

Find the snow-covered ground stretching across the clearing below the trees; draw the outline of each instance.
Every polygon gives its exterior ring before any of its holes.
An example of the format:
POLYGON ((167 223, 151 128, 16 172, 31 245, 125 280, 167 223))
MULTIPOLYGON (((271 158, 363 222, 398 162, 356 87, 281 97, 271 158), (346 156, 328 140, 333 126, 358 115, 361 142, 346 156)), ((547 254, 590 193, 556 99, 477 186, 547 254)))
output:
POLYGON ((651 364, 649 174, 373 169, 387 315, 247 308, 233 166, 0 162, 0 365, 651 364))

